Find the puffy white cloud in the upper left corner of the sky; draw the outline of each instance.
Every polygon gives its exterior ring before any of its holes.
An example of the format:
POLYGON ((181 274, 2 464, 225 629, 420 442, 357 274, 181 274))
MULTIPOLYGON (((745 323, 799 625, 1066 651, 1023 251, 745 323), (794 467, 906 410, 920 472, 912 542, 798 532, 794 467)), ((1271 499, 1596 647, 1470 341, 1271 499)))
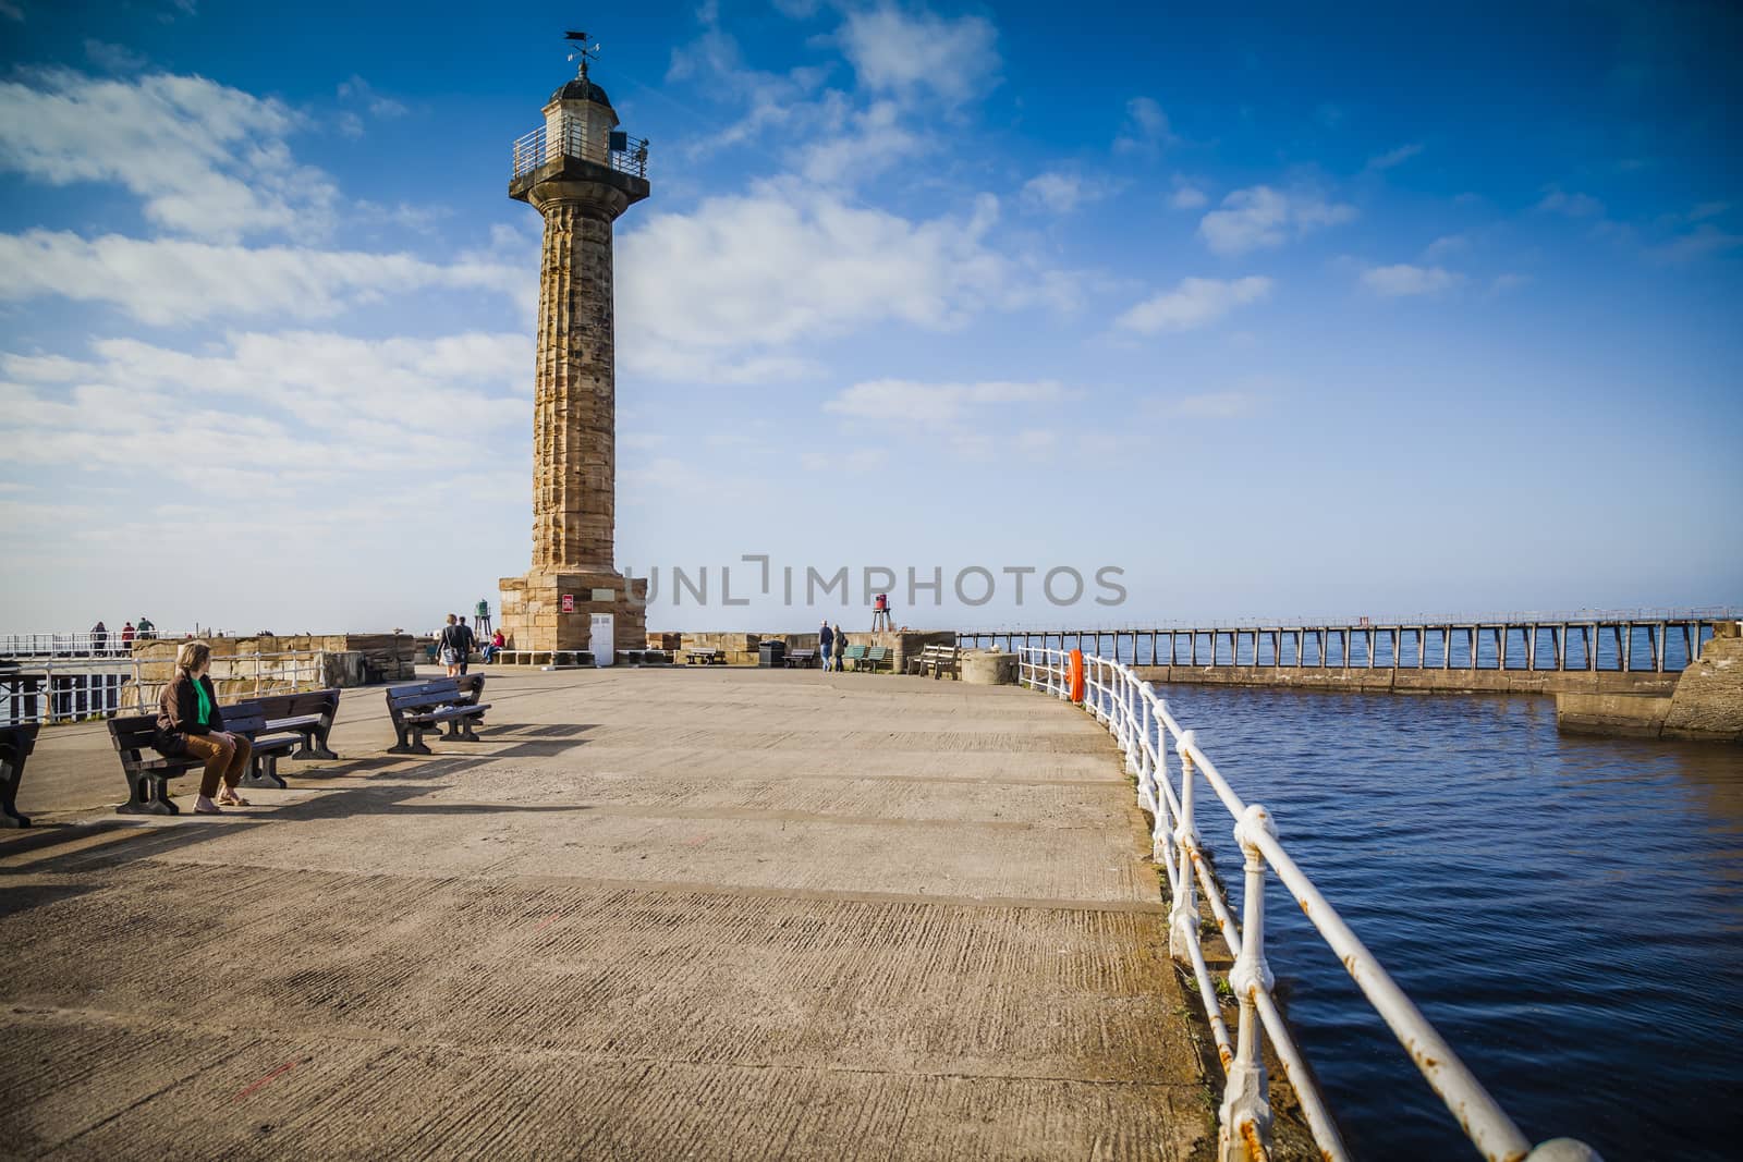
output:
POLYGON ((213 240, 322 233, 336 197, 284 138, 302 118, 204 77, 105 80, 44 70, 0 84, 0 169, 51 185, 120 183, 146 220, 213 240))

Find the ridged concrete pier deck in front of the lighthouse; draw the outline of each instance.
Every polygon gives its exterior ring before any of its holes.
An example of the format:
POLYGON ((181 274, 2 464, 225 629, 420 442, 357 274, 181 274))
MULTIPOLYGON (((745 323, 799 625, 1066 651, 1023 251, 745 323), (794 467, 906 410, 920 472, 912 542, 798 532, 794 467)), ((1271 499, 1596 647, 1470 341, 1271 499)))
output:
MULTIPOLYGON (((485 742, 406 760, 347 692, 345 758, 253 808, 0 836, 0 1155, 1208 1153, 1082 714, 781 671, 486 700, 485 742)), ((101 728, 52 730, 19 807, 120 794, 101 728)))

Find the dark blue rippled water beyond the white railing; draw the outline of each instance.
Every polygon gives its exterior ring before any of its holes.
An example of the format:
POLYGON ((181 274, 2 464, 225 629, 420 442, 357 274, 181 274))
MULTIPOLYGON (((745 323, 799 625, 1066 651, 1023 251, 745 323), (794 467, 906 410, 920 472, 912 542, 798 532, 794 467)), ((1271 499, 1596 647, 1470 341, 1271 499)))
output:
MULTIPOLYGON (((1532 1141, 1740 1157, 1743 749, 1563 737, 1550 699, 1163 693, 1532 1141)), ((1271 885, 1271 969, 1356 1157, 1476 1157, 1271 885)))

